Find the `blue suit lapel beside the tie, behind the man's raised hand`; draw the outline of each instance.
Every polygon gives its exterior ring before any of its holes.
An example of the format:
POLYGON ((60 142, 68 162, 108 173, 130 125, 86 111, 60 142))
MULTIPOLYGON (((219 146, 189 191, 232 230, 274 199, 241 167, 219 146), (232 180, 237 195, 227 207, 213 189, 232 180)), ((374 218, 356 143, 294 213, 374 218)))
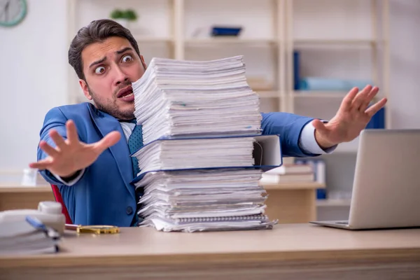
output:
POLYGON ((90 116, 92 116, 92 120, 97 126, 99 132, 101 132, 102 137, 105 137, 105 135, 109 134, 109 132, 120 132, 120 141, 118 141, 117 144, 111 146, 109 150, 117 162, 118 170, 120 171, 121 177, 123 177, 125 187, 135 199, 134 188, 131 188, 132 185, 130 184, 134 177, 132 171, 132 160, 130 158, 130 152, 128 149, 127 140, 125 139, 123 128, 121 127, 118 120, 113 116, 97 110, 94 108, 94 106, 92 106, 92 104, 89 104, 88 106, 90 116))

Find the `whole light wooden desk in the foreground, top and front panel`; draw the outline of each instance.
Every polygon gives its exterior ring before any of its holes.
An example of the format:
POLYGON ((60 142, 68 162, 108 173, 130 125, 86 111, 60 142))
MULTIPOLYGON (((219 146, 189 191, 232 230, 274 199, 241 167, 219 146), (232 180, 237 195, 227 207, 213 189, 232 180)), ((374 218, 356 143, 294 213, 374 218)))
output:
POLYGON ((419 279, 420 229, 276 225, 242 232, 67 233, 64 251, 0 257, 1 279, 419 279))

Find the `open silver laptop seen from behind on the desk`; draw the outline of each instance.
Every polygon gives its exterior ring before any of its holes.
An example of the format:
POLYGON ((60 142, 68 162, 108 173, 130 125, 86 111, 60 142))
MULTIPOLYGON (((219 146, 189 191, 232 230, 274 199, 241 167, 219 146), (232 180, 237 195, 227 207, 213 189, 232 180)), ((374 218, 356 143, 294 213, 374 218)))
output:
POLYGON ((420 130, 363 130, 347 230, 420 227, 420 130))

